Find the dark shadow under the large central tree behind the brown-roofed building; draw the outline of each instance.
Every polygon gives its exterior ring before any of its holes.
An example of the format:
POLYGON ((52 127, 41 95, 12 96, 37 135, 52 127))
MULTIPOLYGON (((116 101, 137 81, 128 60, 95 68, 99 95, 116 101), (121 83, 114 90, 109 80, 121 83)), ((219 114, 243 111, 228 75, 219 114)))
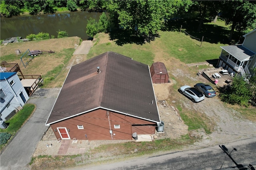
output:
POLYGON ((150 43, 150 41, 154 41, 156 37, 160 37, 160 35, 154 34, 148 37, 139 37, 138 35, 134 35, 123 29, 116 29, 114 31, 110 31, 109 33, 110 40, 115 41, 117 45, 123 46, 124 44, 137 44, 143 45, 146 42, 150 43))

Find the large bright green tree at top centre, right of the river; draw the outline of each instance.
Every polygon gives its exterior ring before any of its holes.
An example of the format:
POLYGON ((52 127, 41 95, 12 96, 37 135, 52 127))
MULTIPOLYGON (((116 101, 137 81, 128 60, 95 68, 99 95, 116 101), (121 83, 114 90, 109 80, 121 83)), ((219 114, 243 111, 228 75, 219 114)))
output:
POLYGON ((110 21, 130 34, 148 37, 156 34, 164 20, 169 19, 176 8, 184 6, 181 0, 110 0, 107 11, 110 21))

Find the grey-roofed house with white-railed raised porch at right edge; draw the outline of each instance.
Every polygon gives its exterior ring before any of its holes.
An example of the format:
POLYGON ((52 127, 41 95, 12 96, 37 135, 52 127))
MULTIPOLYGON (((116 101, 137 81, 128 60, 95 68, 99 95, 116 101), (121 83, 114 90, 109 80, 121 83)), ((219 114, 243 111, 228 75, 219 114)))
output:
POLYGON ((253 75, 256 67, 256 29, 244 35, 240 45, 222 46, 218 66, 240 76, 253 75))

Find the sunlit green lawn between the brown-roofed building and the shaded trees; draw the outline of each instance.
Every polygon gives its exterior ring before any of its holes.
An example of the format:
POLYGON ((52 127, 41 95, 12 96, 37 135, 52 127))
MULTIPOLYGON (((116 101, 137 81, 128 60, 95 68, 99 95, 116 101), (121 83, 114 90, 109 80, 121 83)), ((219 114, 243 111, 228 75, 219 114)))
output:
MULTIPOLYGON (((208 27, 213 27, 211 23, 208 27)), ((219 28, 218 28, 219 29, 219 28)), ((225 28, 226 29, 226 28, 225 28)), ((183 63, 198 63, 206 60, 218 59, 221 48, 227 44, 220 42, 211 43, 208 42, 206 37, 214 37, 214 33, 209 32, 209 35, 204 36, 206 41, 202 42, 192 39, 189 35, 180 33, 178 31, 158 31, 160 37, 156 37, 156 41, 159 42, 158 46, 164 49, 164 52, 168 53, 170 57, 175 57, 183 63)), ((100 34, 96 35, 96 39, 100 39, 100 34)), ((202 37, 200 37, 202 38, 202 37)), ((133 58, 144 64, 151 65, 154 62, 153 51, 156 47, 151 43, 145 43, 143 45, 137 45, 136 43, 124 43, 124 45, 117 45, 116 41, 111 43, 96 43, 94 47, 90 49, 87 55, 88 59, 105 53, 106 51, 114 51, 127 57, 133 58)))

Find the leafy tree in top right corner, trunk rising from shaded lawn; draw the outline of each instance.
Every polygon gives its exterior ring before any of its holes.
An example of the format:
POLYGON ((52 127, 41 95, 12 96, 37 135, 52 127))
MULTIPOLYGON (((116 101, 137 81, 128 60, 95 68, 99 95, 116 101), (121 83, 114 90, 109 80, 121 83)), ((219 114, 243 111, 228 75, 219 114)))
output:
POLYGON ((234 30, 238 32, 256 28, 256 1, 232 0, 223 1, 222 18, 226 25, 231 24, 229 41, 234 30))

